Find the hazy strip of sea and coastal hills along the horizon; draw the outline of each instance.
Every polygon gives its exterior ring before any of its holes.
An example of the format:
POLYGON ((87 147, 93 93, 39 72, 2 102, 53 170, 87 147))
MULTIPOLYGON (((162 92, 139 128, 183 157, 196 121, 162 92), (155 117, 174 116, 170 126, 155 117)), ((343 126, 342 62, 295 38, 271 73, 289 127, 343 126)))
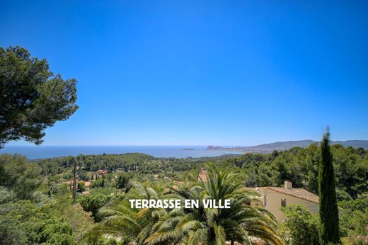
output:
MULTIPOLYGON (((262 153, 286 151, 293 147, 308 147, 318 142, 306 139, 299 141, 274 142, 253 147, 219 147, 219 146, 6 146, 0 154, 21 154, 28 159, 46 159, 60 156, 143 153, 157 158, 198 158, 224 156, 227 154, 262 153)), ((332 141, 343 147, 368 149, 368 140, 332 141)))

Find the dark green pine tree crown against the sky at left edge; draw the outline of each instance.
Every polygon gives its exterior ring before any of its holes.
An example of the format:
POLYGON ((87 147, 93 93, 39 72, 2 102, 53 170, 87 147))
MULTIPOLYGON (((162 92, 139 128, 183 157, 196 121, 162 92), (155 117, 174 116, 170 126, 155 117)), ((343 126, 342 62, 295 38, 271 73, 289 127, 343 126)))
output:
POLYGON ((0 148, 16 139, 40 144, 47 127, 78 108, 76 80, 54 75, 23 47, 0 47, 0 74, 0 148))

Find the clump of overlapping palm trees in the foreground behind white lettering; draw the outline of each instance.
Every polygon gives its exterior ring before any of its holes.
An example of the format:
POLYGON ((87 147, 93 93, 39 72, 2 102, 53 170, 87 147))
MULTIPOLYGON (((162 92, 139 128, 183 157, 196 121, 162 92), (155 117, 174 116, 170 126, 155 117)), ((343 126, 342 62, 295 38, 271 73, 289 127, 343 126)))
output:
POLYGON ((225 241, 249 242, 248 236, 260 237, 272 244, 283 244, 277 234, 277 224, 269 212, 245 205, 255 193, 242 188, 238 173, 209 166, 207 183, 174 185, 172 192, 159 183, 143 185, 130 181, 124 200, 100 209, 103 220, 88 232, 85 239, 120 237, 123 242, 136 244, 224 244, 225 241), (132 209, 128 199, 217 199, 231 200, 230 209, 200 208, 163 210, 132 209))

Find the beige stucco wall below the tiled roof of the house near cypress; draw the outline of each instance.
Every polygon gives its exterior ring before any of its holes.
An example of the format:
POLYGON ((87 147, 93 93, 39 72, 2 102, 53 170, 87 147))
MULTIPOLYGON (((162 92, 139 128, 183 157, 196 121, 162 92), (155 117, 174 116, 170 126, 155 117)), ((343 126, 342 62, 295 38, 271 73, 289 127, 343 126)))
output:
POLYGON ((300 204, 306 206, 306 208, 312 213, 316 214, 319 210, 318 203, 313 203, 308 200, 303 200, 301 198, 295 198, 291 195, 285 195, 283 193, 279 193, 275 190, 270 190, 268 188, 261 188, 260 193, 267 196, 267 205, 265 209, 270 211, 272 215, 275 215, 277 222, 282 222, 284 220, 284 213, 280 210, 281 207, 281 199, 286 199, 286 205, 292 204, 300 204))

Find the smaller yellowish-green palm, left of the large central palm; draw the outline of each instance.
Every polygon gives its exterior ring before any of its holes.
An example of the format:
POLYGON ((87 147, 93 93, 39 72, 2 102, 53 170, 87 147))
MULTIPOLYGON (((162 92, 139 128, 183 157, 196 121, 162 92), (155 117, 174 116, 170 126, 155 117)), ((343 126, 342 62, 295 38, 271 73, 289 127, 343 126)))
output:
POLYGON ((163 209, 131 208, 128 199, 160 199, 163 198, 163 186, 142 185, 130 181, 130 193, 124 200, 115 200, 98 211, 102 221, 86 232, 81 242, 96 244, 100 237, 113 237, 123 244, 144 244, 144 241, 156 230, 154 224, 166 214, 163 209))

